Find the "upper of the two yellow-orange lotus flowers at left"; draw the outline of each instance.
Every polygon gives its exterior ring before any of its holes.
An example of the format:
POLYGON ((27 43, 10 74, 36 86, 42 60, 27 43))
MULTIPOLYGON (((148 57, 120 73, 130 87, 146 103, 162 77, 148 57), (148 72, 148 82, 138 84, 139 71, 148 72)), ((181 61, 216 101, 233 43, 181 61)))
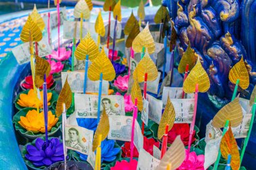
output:
MULTIPOLYGON (((52 98, 53 93, 47 93, 47 101, 48 105, 51 105, 49 102, 52 98)), ((28 94, 20 94, 20 99, 18 99, 18 104, 24 108, 36 108, 37 103, 39 104, 39 108, 43 107, 43 101, 42 101, 42 96, 43 96, 43 91, 40 91, 40 96, 41 99, 38 99, 37 95, 34 93, 34 89, 30 89, 28 91, 28 94)))

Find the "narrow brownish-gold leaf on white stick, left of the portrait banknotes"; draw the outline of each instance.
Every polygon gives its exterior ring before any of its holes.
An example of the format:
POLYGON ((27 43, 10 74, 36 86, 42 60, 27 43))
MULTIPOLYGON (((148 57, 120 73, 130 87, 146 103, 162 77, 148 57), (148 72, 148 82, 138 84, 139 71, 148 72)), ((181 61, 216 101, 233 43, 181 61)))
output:
POLYGON ((63 112, 63 103, 65 103, 67 110, 69 109, 72 103, 72 91, 69 86, 69 83, 67 83, 67 78, 61 89, 61 93, 59 93, 59 98, 57 100, 56 110, 55 110, 57 117, 61 116, 63 112))

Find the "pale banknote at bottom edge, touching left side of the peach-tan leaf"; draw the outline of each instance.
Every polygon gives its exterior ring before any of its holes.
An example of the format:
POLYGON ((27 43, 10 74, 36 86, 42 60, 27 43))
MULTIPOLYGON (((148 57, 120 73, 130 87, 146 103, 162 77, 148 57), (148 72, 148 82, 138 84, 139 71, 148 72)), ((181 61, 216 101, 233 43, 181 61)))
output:
POLYGON ((154 170, 159 163, 160 160, 150 155, 145 149, 141 148, 139 150, 137 170, 154 170))

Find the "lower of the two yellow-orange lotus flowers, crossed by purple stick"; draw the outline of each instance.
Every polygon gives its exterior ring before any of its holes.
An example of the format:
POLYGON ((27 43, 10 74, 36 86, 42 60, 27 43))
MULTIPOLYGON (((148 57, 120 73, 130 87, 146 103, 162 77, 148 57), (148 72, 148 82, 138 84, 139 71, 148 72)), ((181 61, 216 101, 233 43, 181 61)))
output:
MULTIPOLYGON (((51 128, 55 126, 55 124, 57 124, 58 120, 59 118, 56 118, 55 115, 53 115, 53 113, 49 111, 47 130, 50 131, 51 128)), ((30 110, 26 114, 26 117, 20 116, 20 121, 18 123, 26 130, 32 131, 34 133, 45 133, 44 112, 38 113, 36 110, 30 110)))

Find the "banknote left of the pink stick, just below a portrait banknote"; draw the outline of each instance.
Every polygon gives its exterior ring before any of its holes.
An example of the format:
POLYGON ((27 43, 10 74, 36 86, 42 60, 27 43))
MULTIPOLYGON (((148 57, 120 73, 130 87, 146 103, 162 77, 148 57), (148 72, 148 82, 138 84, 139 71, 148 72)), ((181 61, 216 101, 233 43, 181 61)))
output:
POLYGON ((108 116, 110 129, 108 139, 131 141, 131 116, 108 116))

